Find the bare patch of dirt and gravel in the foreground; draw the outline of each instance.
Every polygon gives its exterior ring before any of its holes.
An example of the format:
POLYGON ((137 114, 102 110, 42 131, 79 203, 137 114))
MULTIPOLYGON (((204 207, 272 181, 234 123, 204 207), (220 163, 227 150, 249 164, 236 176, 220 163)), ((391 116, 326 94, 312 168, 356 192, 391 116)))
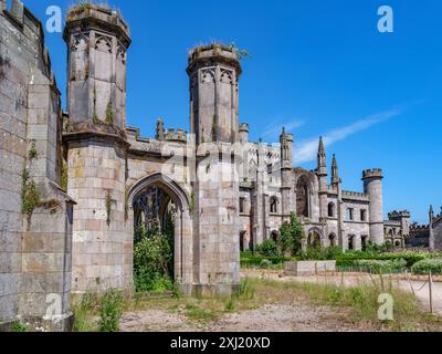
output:
POLYGON ((303 304, 264 305, 256 310, 224 314, 221 319, 198 324, 183 314, 147 310, 126 313, 123 332, 361 332, 345 324, 328 308, 303 304))

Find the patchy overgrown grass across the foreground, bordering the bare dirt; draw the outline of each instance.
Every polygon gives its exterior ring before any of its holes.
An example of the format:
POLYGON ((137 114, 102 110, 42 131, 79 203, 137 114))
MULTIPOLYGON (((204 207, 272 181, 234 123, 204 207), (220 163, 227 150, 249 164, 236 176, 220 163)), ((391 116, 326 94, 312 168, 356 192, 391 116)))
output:
MULTIPOLYGON (((250 278, 241 281, 238 294, 231 299, 152 299, 129 301, 124 305, 125 311, 162 310, 182 315, 197 325, 207 325, 228 313, 255 310, 265 304, 296 306, 299 303, 329 308, 338 321, 355 330, 442 331, 441 317, 429 315, 414 295, 401 291, 391 277, 385 275, 373 275, 369 281, 354 287, 250 278), (378 300, 382 293, 391 294, 393 298, 393 321, 385 322, 378 319, 378 310, 381 305, 378 300)), ((75 311, 75 314, 78 315, 75 330, 97 331, 97 320, 94 324, 91 319, 94 316, 98 319, 99 309, 102 309, 99 299, 86 296, 83 305, 75 311)))

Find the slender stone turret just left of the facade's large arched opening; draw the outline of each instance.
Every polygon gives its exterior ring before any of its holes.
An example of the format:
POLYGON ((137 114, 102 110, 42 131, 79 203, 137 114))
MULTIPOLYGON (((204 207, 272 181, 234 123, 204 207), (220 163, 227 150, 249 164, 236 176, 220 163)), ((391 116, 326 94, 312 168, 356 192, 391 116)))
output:
POLYGON ((283 220, 290 220, 291 214, 296 211, 296 197, 293 188, 293 134, 287 134, 285 127, 280 136, 281 143, 281 205, 283 220))

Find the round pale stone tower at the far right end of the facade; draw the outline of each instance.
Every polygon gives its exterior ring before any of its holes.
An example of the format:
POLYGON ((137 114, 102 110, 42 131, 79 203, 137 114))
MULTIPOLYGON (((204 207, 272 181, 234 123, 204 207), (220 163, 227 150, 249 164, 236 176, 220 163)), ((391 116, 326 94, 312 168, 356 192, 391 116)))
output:
POLYGON ((375 244, 385 243, 382 179, 382 170, 379 168, 367 169, 362 173, 364 191, 370 198, 370 238, 375 244))

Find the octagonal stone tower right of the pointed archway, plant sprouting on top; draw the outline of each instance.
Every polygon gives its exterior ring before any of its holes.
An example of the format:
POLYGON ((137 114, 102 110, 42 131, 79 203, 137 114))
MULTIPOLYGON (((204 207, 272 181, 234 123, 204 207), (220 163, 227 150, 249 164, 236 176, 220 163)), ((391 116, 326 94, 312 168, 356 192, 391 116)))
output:
POLYGON ((197 148, 193 181, 197 294, 228 295, 232 284, 240 281, 239 174, 233 143, 239 139, 241 65, 233 48, 212 44, 189 54, 187 72, 190 126, 197 148))

